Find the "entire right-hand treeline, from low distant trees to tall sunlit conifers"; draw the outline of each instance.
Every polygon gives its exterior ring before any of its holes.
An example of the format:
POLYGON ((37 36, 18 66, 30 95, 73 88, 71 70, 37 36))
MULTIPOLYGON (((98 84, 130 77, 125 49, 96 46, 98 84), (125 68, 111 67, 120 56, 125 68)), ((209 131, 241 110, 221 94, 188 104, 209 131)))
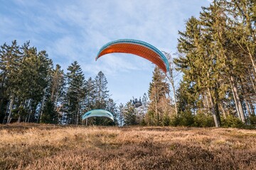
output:
POLYGON ((169 60, 170 81, 154 70, 140 123, 255 126, 256 1, 215 0, 178 33, 178 57, 169 60), (174 69, 183 77, 170 95, 174 69))

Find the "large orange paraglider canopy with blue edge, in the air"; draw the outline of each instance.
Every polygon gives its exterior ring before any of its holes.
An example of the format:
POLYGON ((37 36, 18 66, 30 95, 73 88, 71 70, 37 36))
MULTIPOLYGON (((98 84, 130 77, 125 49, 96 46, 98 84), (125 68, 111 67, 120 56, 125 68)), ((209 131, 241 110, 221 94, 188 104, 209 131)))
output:
POLYGON ((107 55, 114 52, 122 52, 133 55, 138 55, 156 64, 165 73, 169 71, 169 62, 164 54, 153 45, 140 40, 114 40, 104 45, 95 60, 102 55, 107 55))

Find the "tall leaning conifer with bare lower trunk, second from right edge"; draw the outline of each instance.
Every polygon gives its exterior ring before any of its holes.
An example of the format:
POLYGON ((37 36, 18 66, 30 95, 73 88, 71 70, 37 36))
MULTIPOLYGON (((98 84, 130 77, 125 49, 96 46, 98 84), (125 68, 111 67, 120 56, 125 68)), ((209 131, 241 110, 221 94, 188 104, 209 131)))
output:
POLYGON ((240 56, 237 55, 238 44, 234 43, 230 35, 233 33, 232 25, 227 15, 224 13, 223 6, 220 6, 216 1, 213 2, 209 8, 203 8, 201 13, 201 19, 204 21, 204 25, 210 27, 213 34, 213 41, 215 42, 215 55, 219 63, 218 71, 220 76, 229 80, 231 90, 233 91, 235 108, 238 113, 238 117, 245 123, 245 114, 242 108, 242 98, 239 92, 238 75, 243 74, 245 69, 244 62, 240 56))

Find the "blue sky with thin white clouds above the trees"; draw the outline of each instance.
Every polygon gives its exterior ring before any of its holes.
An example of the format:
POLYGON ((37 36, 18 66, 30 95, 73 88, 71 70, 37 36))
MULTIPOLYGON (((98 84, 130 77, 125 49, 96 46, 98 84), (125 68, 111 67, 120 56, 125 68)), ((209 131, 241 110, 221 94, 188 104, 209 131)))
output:
POLYGON ((102 71, 111 98, 127 103, 148 92, 155 66, 120 53, 95 62, 100 48, 127 38, 175 54, 178 30, 209 4, 210 0, 0 0, 0 45, 30 40, 65 72, 74 61, 85 79, 102 71))

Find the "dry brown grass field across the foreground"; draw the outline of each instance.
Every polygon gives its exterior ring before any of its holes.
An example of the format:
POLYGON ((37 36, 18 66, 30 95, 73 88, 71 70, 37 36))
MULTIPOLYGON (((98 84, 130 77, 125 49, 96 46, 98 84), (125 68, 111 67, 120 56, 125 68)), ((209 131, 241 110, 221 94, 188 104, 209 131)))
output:
POLYGON ((0 125, 0 169, 256 169, 256 130, 0 125))

